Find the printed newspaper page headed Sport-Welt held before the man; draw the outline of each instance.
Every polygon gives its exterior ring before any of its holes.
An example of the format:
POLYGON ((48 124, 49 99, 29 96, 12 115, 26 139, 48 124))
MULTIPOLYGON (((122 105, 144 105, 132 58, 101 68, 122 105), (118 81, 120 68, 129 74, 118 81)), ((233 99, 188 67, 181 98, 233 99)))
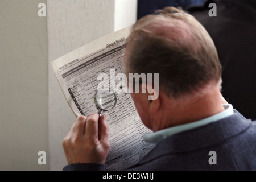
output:
MULTIPOLYGON (((100 83, 97 76, 110 69, 123 73, 123 56, 130 27, 124 28, 76 49, 52 61, 52 68, 63 94, 76 117, 97 113, 93 96, 100 83)), ((120 79, 121 80, 121 79, 120 79)), ((135 109, 130 94, 117 93, 117 105, 105 112, 109 126, 110 151, 106 158, 106 170, 127 169, 143 158, 154 144, 143 140, 150 133, 135 109)))

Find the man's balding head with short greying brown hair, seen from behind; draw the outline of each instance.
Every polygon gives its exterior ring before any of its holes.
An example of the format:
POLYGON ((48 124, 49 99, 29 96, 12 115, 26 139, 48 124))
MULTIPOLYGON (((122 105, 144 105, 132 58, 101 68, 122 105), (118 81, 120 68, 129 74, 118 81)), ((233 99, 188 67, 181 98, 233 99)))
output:
MULTIPOLYGON (((220 61, 208 32, 193 16, 174 7, 144 16, 134 24, 125 68, 126 73, 159 73, 159 93, 174 100, 193 97, 221 80, 220 61)), ((143 121, 146 116, 138 109, 141 98, 133 94, 133 99, 143 121)), ((146 112, 151 106, 143 107, 146 112)))

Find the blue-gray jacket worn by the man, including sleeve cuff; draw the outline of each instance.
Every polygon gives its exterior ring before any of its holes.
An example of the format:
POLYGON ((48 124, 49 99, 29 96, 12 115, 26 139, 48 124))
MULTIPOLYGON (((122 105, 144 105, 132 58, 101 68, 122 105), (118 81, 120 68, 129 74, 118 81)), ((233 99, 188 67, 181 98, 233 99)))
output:
MULTIPOLYGON (((63 168, 104 169, 104 164, 63 168)), ((256 122, 234 110, 230 117, 163 139, 128 170, 256 170, 256 122)))

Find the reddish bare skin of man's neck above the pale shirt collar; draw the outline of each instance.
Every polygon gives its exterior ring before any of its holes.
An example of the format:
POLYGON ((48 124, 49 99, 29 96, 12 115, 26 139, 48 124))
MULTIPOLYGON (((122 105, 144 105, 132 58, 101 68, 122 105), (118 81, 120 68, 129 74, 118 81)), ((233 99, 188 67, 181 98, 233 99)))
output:
POLYGON ((177 100, 166 109, 166 117, 161 119, 157 130, 199 121, 224 111, 218 87, 209 86, 201 95, 177 100))

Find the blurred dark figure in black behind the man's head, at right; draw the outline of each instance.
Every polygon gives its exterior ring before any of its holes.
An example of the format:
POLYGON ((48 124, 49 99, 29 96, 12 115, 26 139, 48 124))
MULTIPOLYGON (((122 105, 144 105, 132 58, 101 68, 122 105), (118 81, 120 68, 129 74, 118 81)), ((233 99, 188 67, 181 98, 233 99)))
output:
POLYGON ((216 0, 187 7, 209 32, 222 64, 222 94, 246 118, 256 119, 256 1, 216 0), (209 3, 217 16, 210 17, 209 3))

